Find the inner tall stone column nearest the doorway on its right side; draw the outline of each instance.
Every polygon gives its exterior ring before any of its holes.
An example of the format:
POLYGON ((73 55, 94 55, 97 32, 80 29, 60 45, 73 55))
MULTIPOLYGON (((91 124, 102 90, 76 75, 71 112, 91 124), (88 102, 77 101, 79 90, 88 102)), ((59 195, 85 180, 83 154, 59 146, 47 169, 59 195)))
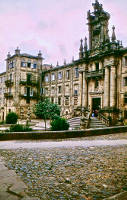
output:
POLYGON ((110 71, 109 67, 105 67, 105 77, 104 77, 104 107, 109 106, 109 96, 110 96, 110 91, 109 91, 109 82, 110 82, 110 71))

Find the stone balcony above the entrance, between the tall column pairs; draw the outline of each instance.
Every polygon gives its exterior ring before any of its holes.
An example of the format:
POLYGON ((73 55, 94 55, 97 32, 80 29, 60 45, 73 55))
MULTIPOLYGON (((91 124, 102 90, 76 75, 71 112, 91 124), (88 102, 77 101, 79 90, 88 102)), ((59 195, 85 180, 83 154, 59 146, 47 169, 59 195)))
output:
POLYGON ((85 76, 87 79, 101 78, 104 76, 104 70, 86 71, 85 76))

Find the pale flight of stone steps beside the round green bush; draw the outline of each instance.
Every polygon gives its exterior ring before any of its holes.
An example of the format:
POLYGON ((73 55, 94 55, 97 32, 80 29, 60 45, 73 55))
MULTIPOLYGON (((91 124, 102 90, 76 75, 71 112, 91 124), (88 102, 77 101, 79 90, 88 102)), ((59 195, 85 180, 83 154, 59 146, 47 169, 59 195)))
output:
POLYGON ((74 117, 68 120, 68 123, 70 125, 70 129, 80 129, 80 121, 81 117, 74 117))

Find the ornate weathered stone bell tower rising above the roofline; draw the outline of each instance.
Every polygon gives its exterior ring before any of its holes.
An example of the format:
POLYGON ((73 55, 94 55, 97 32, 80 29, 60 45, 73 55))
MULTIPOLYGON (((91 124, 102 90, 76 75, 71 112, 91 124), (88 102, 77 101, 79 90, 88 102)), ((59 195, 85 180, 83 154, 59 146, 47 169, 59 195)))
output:
POLYGON ((110 15, 103 10, 102 4, 95 0, 92 4, 94 12, 87 13, 89 30, 89 49, 99 48, 102 43, 109 42, 108 21, 110 15))

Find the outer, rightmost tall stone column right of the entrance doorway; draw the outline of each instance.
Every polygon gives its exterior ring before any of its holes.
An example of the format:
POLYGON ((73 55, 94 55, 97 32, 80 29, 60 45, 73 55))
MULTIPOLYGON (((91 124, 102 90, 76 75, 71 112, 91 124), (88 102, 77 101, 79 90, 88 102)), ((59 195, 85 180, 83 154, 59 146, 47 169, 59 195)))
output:
POLYGON ((111 66, 110 75, 110 107, 116 106, 116 67, 111 66))

